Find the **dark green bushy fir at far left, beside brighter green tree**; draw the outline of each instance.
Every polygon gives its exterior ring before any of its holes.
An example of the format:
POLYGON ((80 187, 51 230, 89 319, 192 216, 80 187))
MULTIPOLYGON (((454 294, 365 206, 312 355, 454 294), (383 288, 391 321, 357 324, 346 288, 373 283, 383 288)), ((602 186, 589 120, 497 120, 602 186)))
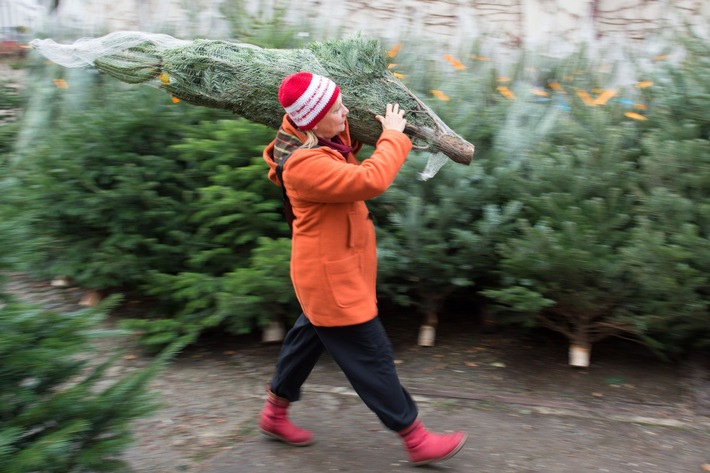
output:
POLYGON ((149 269, 181 267, 186 205, 204 176, 170 145, 209 115, 149 89, 96 87, 101 102, 66 107, 20 154, 3 182, 3 210, 25 230, 16 241, 29 255, 23 269, 84 287, 135 287, 149 269))

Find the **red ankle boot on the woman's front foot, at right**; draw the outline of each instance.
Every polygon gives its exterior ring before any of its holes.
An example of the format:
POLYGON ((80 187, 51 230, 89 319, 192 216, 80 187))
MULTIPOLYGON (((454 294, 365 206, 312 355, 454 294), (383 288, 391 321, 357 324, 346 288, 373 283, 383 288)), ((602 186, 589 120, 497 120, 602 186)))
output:
POLYGON ((429 432, 418 420, 399 433, 409 452, 414 466, 428 465, 435 461, 448 460, 456 455, 466 443, 466 434, 435 434, 429 432))

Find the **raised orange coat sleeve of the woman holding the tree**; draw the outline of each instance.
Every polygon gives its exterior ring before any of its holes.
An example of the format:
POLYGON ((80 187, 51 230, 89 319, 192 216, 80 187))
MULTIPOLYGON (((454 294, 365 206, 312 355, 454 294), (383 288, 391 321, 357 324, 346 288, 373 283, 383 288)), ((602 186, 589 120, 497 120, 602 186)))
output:
POLYGON ((359 165, 345 162, 328 148, 299 150, 284 169, 286 191, 311 202, 372 199, 392 184, 411 149, 407 135, 385 130, 372 156, 359 165))

